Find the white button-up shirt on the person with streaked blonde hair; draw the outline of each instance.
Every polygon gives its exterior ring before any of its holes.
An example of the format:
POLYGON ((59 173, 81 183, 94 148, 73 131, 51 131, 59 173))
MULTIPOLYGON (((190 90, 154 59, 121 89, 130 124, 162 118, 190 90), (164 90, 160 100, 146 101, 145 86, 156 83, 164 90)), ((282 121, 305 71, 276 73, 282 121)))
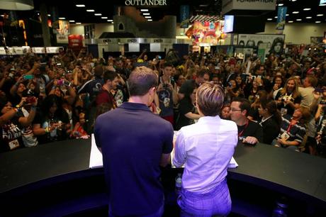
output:
POLYGON ((227 175, 227 166, 237 146, 237 125, 219 116, 204 116, 176 134, 173 164, 184 165, 182 187, 205 193, 227 175))

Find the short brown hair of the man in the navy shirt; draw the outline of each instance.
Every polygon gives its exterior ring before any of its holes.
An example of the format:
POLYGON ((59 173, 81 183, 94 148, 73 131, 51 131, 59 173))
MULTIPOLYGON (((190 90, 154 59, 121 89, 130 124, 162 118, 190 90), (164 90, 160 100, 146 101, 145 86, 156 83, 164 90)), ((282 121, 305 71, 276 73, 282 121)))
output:
POLYGON ((157 74, 147 67, 136 67, 127 81, 130 96, 144 96, 152 87, 157 87, 157 74))

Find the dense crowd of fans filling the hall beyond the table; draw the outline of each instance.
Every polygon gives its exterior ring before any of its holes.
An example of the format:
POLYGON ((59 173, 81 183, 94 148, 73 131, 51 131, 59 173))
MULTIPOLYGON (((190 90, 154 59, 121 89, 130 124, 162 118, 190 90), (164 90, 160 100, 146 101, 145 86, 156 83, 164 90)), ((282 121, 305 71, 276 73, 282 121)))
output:
MULTIPOLYGON (((173 55, 171 55, 173 54, 173 55)), ((196 91, 223 86, 220 117, 237 124, 243 143, 265 143, 311 155, 325 154, 326 56, 318 47, 293 46, 283 55, 240 60, 198 52, 165 59, 94 58, 72 50, 54 56, 0 60, 0 152, 72 138, 87 138, 96 117, 128 101, 128 78, 137 66, 159 77, 153 113, 174 130, 198 121, 196 91), (308 55, 302 55, 308 50, 308 55)), ((113 123, 114 124, 114 123, 113 123)))

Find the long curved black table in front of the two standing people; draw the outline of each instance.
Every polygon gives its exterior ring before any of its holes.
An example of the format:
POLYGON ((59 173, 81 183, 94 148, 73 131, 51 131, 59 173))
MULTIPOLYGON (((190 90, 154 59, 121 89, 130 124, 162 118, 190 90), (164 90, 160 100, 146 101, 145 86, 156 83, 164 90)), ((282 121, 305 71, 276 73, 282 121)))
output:
MULTIPOLYGON (((103 168, 89 169, 90 152, 91 139, 1 153, 0 216, 64 216, 105 205, 103 168)), ((241 143, 234 157, 239 167, 229 169, 228 181, 298 198, 315 209, 325 207, 325 159, 241 143)), ((163 174, 174 179, 173 172, 163 174)), ((232 185, 230 191, 232 195, 232 185)))

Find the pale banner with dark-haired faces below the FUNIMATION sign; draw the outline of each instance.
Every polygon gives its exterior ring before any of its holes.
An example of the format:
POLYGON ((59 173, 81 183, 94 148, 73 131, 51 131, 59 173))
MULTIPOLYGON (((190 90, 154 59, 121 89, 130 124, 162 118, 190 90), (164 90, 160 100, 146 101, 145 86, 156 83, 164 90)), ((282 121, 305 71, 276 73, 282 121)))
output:
POLYGON ((259 47, 261 43, 266 43, 266 53, 279 55, 284 52, 285 35, 273 34, 239 34, 237 45, 246 47, 259 47))

